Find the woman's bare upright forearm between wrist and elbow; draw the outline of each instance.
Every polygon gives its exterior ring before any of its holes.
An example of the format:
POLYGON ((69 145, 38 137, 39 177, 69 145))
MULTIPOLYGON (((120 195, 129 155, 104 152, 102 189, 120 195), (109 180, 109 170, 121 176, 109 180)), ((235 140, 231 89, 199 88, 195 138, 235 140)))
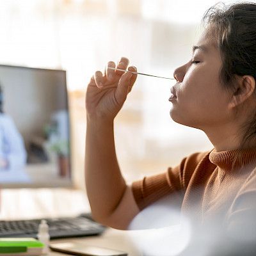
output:
POLYGON ((85 179, 94 218, 106 220, 115 211, 126 184, 115 152, 113 121, 87 118, 85 179))

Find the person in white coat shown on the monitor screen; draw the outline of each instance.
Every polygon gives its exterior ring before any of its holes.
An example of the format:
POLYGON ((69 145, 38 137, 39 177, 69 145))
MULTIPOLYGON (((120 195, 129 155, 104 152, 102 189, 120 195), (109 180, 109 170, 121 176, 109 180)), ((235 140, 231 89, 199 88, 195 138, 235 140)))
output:
POLYGON ((3 111, 3 90, 0 87, 0 171, 22 170, 26 149, 11 116, 3 111))

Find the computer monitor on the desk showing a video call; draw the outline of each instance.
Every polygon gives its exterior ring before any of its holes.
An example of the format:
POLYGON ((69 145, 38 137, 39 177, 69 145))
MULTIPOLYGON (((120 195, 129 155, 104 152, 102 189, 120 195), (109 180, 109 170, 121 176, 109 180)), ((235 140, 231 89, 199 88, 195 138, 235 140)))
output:
POLYGON ((0 186, 72 186, 65 70, 0 65, 0 186))

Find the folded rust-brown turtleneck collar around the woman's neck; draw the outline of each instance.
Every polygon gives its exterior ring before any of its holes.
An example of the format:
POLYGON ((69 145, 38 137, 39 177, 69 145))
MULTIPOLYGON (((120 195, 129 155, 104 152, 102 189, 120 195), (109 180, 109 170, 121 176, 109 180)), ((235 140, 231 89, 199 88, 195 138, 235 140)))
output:
POLYGON ((243 166, 256 162, 256 148, 220 152, 213 149, 209 154, 209 160, 224 172, 240 170, 243 166))

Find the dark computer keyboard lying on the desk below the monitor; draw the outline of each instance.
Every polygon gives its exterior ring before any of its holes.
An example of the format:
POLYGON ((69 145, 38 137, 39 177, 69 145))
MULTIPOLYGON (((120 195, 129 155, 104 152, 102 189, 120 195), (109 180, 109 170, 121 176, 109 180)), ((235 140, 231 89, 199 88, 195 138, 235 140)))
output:
MULTIPOLYGON (((37 238, 38 225, 41 220, 0 220, 0 237, 37 238)), ((68 218, 44 218, 44 220, 49 225, 51 239, 94 236, 101 234, 106 229, 106 227, 93 221, 90 214, 81 214, 68 218)))

